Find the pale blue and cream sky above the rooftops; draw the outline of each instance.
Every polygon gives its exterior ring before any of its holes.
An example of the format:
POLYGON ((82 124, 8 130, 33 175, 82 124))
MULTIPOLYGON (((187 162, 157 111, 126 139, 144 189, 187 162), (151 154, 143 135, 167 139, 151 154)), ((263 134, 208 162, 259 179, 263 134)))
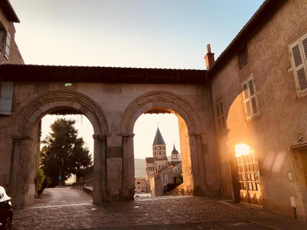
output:
POLYGON ((263 0, 10 0, 26 64, 204 69, 263 0))

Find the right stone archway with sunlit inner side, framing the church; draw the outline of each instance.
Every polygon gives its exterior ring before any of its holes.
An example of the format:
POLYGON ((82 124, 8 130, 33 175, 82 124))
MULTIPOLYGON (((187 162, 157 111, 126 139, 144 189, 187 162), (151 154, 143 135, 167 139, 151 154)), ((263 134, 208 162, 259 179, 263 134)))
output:
MULTIPOLYGON (((122 135, 122 188, 123 194, 134 193, 134 123, 142 113, 163 109, 178 117, 182 151, 182 171, 185 178, 181 194, 207 194, 205 160, 207 133, 195 107, 185 98, 167 91, 142 94, 132 101, 122 117, 119 134, 122 135)), ((129 195, 131 196, 131 195, 129 195)))

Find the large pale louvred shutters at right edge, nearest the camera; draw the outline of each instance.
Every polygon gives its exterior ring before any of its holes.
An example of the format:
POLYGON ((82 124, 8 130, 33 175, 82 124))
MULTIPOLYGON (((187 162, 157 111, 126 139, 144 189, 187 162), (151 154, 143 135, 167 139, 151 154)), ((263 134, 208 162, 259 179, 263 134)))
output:
POLYGON ((307 93, 307 33, 289 47, 296 90, 299 95, 307 93))

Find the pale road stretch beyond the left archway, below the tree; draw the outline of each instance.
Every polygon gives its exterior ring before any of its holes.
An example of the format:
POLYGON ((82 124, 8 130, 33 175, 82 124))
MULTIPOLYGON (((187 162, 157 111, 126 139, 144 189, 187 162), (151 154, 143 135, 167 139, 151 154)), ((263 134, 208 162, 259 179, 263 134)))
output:
MULTIPOLYGON (((92 200, 89 194, 82 190, 69 188, 47 188, 41 194, 40 198, 35 198, 35 204, 50 204, 59 201, 84 201, 92 200)), ((64 202, 63 202, 64 203, 64 202)))

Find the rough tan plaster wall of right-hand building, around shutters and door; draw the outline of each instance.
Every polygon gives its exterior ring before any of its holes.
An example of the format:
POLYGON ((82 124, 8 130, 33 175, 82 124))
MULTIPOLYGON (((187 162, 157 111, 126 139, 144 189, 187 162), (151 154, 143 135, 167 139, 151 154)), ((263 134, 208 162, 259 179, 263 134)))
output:
POLYGON ((294 217, 290 197, 298 196, 298 185, 295 178, 288 178, 288 173, 295 175, 289 147, 298 142, 299 133, 307 137, 307 97, 298 97, 293 71, 288 70, 288 45, 307 32, 307 4, 305 0, 283 2, 246 38, 250 62, 239 70, 235 52, 214 71, 211 88, 213 107, 222 100, 227 120, 227 130, 217 134, 225 196, 234 198, 235 145, 244 143, 258 157, 264 208, 294 217), (251 74, 260 115, 246 121, 241 82, 251 74))

